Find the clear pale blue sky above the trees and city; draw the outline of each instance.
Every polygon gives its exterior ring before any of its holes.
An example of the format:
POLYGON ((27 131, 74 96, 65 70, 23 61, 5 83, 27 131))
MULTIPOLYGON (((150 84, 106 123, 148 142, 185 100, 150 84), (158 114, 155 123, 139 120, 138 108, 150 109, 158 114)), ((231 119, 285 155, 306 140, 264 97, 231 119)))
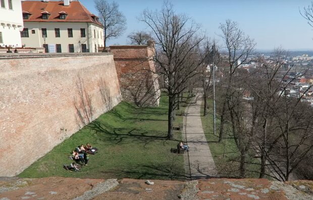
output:
MULTIPOLYGON (((91 13, 97 15, 93 0, 79 0, 91 13)), ((111 0, 108 0, 110 3, 111 0)), ((116 0, 119 10, 127 19, 127 30, 108 45, 127 44, 127 36, 134 31, 149 31, 137 20, 145 10, 160 10, 162 0, 116 0)), ((184 13, 195 22, 207 37, 221 42, 221 23, 227 19, 239 24, 243 32, 253 38, 256 49, 313 50, 313 27, 300 15, 299 10, 311 4, 311 0, 169 0, 176 13, 184 13)))

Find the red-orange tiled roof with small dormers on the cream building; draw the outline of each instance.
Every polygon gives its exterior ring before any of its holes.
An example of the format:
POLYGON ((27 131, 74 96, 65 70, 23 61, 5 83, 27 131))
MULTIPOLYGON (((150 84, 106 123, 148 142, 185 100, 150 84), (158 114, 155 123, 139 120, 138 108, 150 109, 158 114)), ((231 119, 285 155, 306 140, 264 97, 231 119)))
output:
POLYGON ((96 21, 96 16, 91 14, 80 2, 70 2, 69 6, 64 6, 63 1, 25 1, 22 2, 23 13, 31 13, 24 22, 91 22, 102 26, 96 21), (49 18, 41 18, 42 13, 49 13, 49 18), (61 12, 66 12, 66 19, 60 19, 61 12))

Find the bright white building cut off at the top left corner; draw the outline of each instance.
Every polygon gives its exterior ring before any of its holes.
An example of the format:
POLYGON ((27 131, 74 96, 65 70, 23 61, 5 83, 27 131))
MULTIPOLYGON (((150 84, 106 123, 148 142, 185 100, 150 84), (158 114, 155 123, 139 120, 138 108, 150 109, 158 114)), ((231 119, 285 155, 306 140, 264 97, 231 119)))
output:
POLYGON ((21 47, 21 0, 0 0, 0 46, 21 47))

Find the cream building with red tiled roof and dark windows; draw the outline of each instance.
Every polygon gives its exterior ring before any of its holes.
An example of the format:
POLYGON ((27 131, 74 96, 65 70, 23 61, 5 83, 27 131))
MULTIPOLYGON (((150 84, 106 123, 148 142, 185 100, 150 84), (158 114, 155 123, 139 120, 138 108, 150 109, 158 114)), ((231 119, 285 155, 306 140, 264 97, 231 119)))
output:
POLYGON ((98 17, 78 1, 22 0, 22 10, 21 37, 26 47, 44 47, 46 52, 98 52, 103 46, 98 17))

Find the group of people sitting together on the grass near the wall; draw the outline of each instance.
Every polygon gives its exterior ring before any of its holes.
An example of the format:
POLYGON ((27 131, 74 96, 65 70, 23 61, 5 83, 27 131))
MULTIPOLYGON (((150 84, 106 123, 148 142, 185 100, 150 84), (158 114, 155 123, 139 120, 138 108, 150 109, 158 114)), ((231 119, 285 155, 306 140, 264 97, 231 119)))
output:
POLYGON ((95 154, 97 151, 97 148, 92 147, 89 143, 87 143, 85 146, 80 145, 76 147, 76 149, 72 151, 72 155, 69 156, 69 158, 75 162, 72 162, 69 165, 63 165, 63 167, 66 170, 80 171, 81 165, 86 166, 89 161, 89 156, 87 154, 95 154))

